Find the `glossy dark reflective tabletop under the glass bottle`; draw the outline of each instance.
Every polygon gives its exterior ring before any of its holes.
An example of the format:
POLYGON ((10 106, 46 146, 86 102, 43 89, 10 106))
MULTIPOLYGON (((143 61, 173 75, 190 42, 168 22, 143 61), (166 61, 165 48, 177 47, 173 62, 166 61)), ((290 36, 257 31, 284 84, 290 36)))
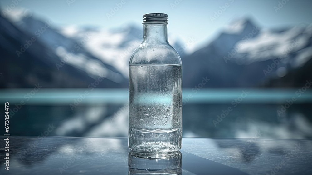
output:
POLYGON ((3 175, 312 174, 312 140, 183 138, 180 152, 145 154, 128 138, 9 136, 8 152, 4 139, 3 175))

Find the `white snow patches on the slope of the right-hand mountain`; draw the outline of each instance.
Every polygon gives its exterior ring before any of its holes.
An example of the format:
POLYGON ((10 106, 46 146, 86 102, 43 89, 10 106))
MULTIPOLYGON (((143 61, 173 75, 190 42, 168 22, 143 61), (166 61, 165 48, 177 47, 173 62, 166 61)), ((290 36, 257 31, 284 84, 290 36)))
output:
POLYGON ((234 58, 240 64, 250 64, 278 57, 284 58, 284 61, 287 62, 290 61, 293 53, 301 50, 291 60, 294 63, 291 66, 302 66, 312 55, 311 34, 312 24, 295 26, 283 32, 261 30, 257 37, 251 38, 248 42, 239 41, 236 43, 239 50, 234 58))

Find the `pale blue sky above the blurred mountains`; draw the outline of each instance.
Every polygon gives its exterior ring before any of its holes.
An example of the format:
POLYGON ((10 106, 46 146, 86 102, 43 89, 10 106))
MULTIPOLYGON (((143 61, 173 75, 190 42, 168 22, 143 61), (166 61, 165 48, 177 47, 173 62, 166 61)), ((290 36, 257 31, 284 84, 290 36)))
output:
MULTIPOLYGON (((182 42, 189 37, 196 39, 194 47, 202 46, 217 37, 220 30, 232 20, 251 17, 263 28, 280 28, 302 23, 312 23, 312 1, 310 0, 22 0, 16 7, 30 9, 34 17, 51 19, 55 25, 121 27, 134 23, 142 27, 144 13, 167 13, 168 32, 177 35, 182 42), (72 2, 72 3, 69 3, 72 2), (282 8, 276 10, 279 2, 282 8), (286 2, 286 3, 285 3, 286 2), (215 12, 220 15, 214 17, 215 12), (120 4, 119 4, 120 6, 120 4), (109 18, 112 9, 118 9, 109 18)), ((1 0, 0 7, 6 9, 12 0, 1 0)), ((280 4, 280 7, 281 7, 280 4)))

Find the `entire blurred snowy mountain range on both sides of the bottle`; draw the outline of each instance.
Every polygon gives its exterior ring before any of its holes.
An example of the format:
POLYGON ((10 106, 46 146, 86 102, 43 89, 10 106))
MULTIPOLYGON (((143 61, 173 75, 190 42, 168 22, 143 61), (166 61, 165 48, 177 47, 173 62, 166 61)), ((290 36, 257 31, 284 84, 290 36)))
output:
MULTIPOLYGON (((134 25, 56 28, 34 17, 0 23, 0 88, 86 88, 101 77, 96 87, 128 87, 129 58, 143 38, 134 25)), ((168 36, 182 58, 183 87, 203 77, 205 87, 301 86, 312 77, 311 24, 268 30, 239 19, 220 33, 192 54, 168 36)))

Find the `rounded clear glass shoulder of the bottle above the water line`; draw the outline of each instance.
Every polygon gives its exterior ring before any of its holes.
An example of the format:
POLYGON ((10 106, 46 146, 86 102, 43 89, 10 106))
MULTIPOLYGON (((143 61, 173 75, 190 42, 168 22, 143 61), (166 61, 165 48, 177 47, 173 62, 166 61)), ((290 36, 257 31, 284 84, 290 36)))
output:
POLYGON ((134 64, 182 64, 182 62, 178 52, 169 43, 142 43, 131 55, 129 65, 134 64))

